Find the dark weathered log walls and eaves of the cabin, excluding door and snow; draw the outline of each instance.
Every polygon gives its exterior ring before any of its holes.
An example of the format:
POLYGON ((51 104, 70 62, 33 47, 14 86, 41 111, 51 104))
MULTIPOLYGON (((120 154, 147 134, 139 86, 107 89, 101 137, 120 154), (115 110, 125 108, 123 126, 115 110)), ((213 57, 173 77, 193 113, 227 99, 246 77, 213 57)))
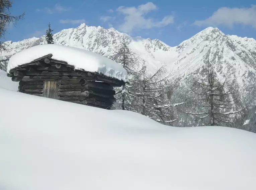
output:
MULTIPOLYGON (((49 54, 10 70, 8 77, 19 82, 19 92, 43 96, 45 81, 58 81, 58 99, 82 105, 112 109, 115 86, 123 81, 98 73, 77 70, 49 54)), ((46 87, 47 88, 47 87, 46 87)))

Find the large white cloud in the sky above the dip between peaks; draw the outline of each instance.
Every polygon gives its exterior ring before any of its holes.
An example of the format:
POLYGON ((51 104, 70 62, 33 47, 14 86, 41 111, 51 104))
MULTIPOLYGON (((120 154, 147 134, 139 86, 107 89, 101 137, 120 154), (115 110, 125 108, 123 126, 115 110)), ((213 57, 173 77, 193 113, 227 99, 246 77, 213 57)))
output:
POLYGON ((124 23, 119 26, 119 30, 126 33, 131 33, 135 29, 150 29, 153 27, 164 27, 173 23, 174 16, 167 15, 161 21, 155 21, 152 18, 146 18, 146 15, 158 10, 157 6, 148 2, 138 7, 118 7, 117 12, 124 15, 124 23))

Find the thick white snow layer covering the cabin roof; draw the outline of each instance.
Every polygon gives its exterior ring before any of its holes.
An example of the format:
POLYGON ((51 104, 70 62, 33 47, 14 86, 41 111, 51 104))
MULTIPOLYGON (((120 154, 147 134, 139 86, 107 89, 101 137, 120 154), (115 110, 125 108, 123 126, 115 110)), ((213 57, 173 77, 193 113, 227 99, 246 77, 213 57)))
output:
POLYGON ((30 63, 48 54, 53 54, 53 59, 66 61, 76 69, 101 73, 124 82, 128 81, 126 70, 118 63, 94 52, 57 44, 37 45, 16 53, 9 60, 7 73, 10 69, 30 63))

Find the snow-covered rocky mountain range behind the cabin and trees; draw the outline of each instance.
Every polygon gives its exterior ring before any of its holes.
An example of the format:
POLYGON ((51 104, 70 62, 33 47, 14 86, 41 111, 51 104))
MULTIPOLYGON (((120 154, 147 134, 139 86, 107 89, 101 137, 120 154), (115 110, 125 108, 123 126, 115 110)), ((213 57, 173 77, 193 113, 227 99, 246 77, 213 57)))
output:
MULTIPOLYGON (((170 47, 158 39, 130 37, 114 28, 106 29, 85 24, 54 34, 54 40, 56 44, 73 46, 109 57, 114 54, 123 36, 151 72, 164 64, 173 77, 182 80, 191 73, 200 74, 203 63, 210 60, 219 79, 224 80, 224 77, 227 77, 232 80, 242 95, 255 85, 256 40, 225 35, 218 28, 208 27, 175 47, 170 47)), ((9 58, 24 49, 45 43, 45 36, 18 42, 7 41, 6 51, 0 53, 0 58, 9 58)))

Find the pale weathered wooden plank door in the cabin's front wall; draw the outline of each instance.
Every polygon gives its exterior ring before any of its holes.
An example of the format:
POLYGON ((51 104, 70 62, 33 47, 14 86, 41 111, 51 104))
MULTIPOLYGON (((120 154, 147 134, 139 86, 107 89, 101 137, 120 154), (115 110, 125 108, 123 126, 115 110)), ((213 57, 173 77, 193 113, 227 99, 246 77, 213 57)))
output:
POLYGON ((58 99, 58 81, 45 81, 43 97, 58 99))

